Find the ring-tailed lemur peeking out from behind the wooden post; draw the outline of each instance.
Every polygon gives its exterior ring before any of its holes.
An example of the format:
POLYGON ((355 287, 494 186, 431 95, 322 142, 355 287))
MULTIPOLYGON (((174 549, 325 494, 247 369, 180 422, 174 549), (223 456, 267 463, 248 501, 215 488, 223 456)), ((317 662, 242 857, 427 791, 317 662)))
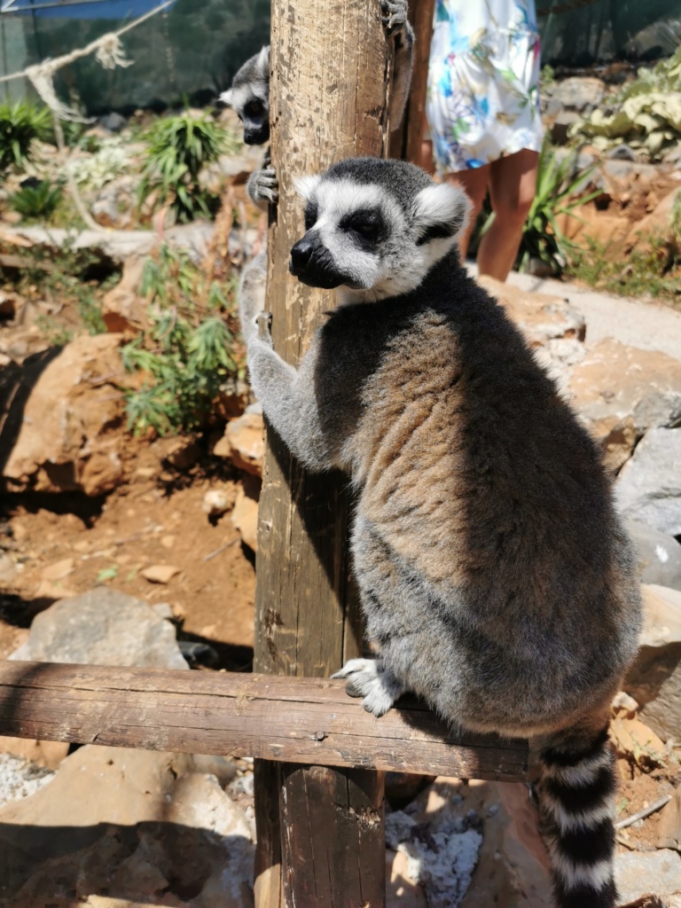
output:
MULTIPOLYGON (((404 116, 411 84, 414 32, 408 14, 408 0, 380 0, 383 25, 394 36, 390 128, 398 129, 404 116)), ((270 141, 270 48, 247 60, 232 80, 232 88, 220 95, 223 104, 232 107, 243 123, 243 141, 247 145, 264 145, 270 141)), ((252 202, 267 209, 279 201, 279 183, 271 166, 270 149, 265 152, 262 169, 255 171, 246 183, 252 202)))

